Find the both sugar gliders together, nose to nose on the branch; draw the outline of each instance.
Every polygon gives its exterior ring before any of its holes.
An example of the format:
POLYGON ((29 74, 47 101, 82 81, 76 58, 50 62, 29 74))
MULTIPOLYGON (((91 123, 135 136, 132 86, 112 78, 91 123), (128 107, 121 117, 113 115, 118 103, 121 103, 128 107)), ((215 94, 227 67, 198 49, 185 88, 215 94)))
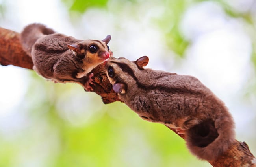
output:
POLYGON ((144 68, 147 56, 116 59, 107 45, 110 39, 78 40, 42 24, 26 26, 20 36, 39 75, 90 91, 89 73, 104 62, 113 90, 142 119, 184 134, 187 147, 200 159, 215 160, 228 150, 235 141, 234 120, 210 89, 192 76, 144 68))

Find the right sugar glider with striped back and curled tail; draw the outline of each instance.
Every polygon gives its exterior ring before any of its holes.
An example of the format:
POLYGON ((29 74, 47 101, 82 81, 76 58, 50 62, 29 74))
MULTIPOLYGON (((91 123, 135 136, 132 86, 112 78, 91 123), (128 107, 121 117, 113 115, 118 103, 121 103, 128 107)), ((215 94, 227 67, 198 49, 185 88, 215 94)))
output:
POLYGON ((234 121, 224 103, 197 78, 144 69, 148 57, 109 59, 105 68, 121 101, 140 117, 184 130, 189 150, 215 160, 235 141, 234 121))

